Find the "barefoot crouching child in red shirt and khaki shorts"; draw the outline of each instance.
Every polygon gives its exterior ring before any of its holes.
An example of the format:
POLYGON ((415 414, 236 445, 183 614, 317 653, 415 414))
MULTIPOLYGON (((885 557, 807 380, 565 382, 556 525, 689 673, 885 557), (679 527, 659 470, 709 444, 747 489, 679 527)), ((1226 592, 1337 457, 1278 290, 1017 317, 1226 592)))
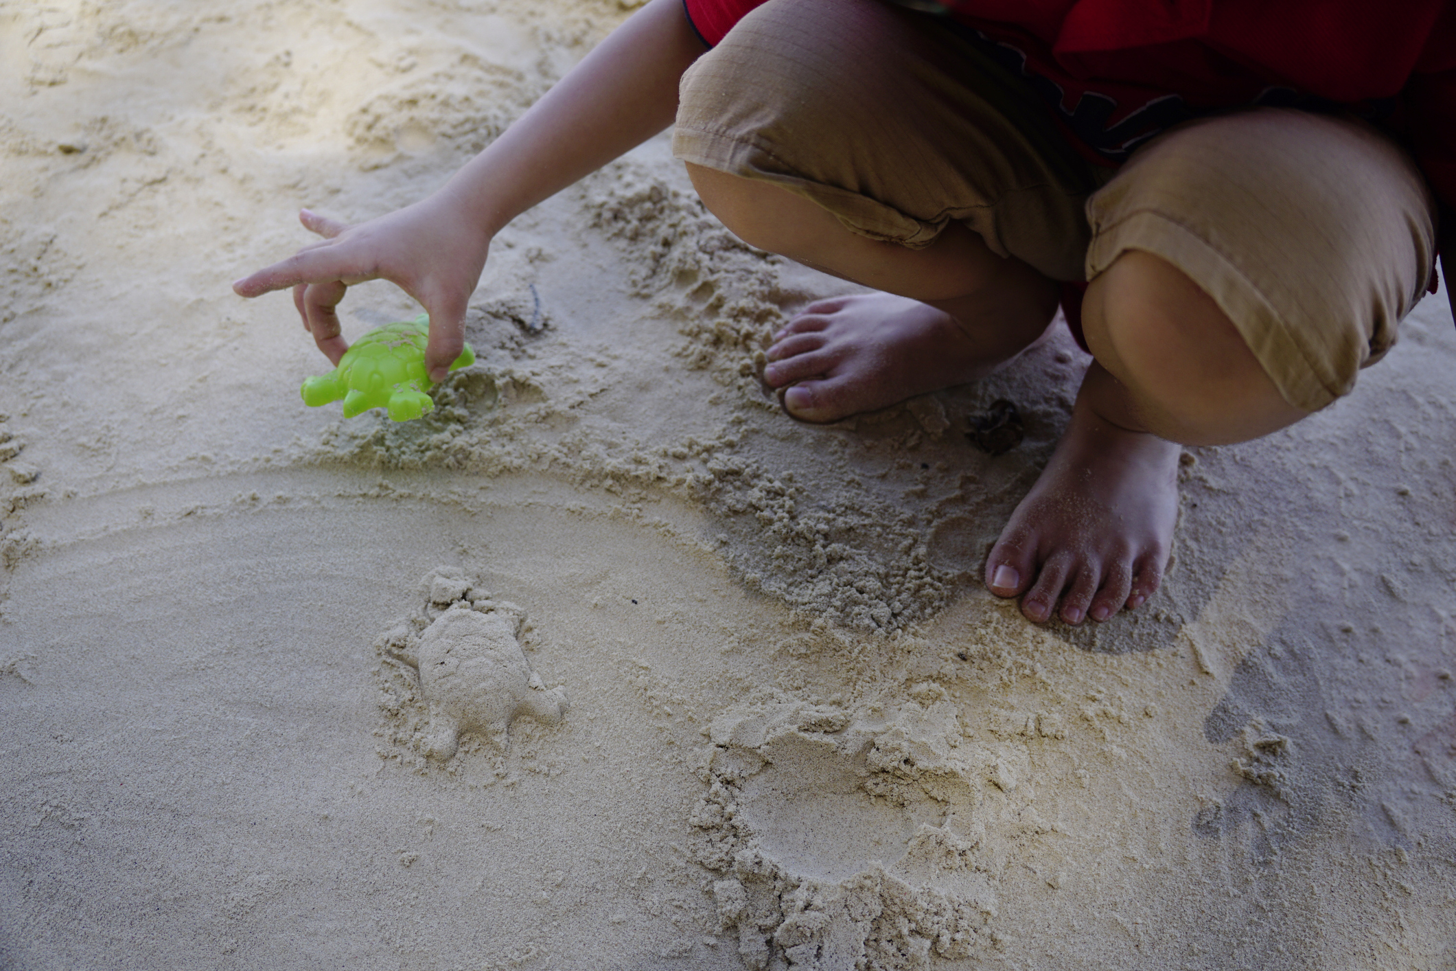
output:
POLYGON ((1456 6, 651 0, 438 192, 352 227, 304 211, 325 239, 234 290, 291 287, 336 362, 345 288, 390 280, 440 380, 495 233, 674 119, 728 229, 881 291, 775 336, 794 418, 983 377, 1067 307, 1095 360, 986 584, 1105 620, 1158 590, 1178 444, 1348 393, 1434 281, 1456 6))

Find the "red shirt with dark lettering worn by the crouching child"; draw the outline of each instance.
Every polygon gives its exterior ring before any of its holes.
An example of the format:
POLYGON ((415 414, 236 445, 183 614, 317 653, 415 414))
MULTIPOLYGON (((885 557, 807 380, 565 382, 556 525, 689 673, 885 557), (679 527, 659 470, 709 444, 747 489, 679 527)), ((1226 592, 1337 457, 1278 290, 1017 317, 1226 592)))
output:
MULTIPOLYGON (((684 0, 713 45, 764 0, 684 0)), ((1456 1, 941 0, 1085 153, 1245 105, 1353 111, 1408 146, 1456 208, 1456 1)))

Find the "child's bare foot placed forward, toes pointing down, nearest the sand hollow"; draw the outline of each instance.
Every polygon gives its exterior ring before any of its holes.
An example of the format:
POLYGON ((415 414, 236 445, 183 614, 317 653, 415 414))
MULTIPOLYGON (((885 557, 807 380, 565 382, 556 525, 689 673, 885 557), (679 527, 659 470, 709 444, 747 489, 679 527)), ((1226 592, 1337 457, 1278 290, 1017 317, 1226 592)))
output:
POLYGON ((1037 623, 1059 598, 1067 623, 1142 606, 1168 565, 1179 451, 1101 419, 1079 399, 1051 461, 992 549, 986 585, 997 597, 1025 591, 1021 611, 1037 623))

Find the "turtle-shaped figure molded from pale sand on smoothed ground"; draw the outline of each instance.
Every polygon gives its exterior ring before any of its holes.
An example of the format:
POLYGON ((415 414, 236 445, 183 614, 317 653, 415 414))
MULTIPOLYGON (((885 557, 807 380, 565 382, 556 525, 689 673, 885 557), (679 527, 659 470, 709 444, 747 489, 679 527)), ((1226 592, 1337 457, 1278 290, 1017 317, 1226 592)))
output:
POLYGON ((450 758, 460 735, 478 729, 504 745, 518 715, 555 725, 566 713, 566 693, 547 691, 526 664, 520 627, 517 616, 459 604, 419 636, 419 687, 430 705, 427 756, 450 758))

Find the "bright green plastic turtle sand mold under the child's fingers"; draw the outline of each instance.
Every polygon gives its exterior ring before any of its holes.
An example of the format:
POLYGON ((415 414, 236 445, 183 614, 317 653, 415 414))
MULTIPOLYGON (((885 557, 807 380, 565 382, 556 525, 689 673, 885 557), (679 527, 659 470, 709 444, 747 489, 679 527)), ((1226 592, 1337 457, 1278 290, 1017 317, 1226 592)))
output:
MULTIPOLYGON (((434 381, 425 373, 430 314, 370 330, 339 358, 328 374, 310 377, 298 389, 309 408, 344 399, 344 416, 354 418, 371 408, 389 409, 395 421, 419 418, 435 409, 425 393, 434 381)), ((475 364, 475 351, 464 351, 450 370, 475 364)))

